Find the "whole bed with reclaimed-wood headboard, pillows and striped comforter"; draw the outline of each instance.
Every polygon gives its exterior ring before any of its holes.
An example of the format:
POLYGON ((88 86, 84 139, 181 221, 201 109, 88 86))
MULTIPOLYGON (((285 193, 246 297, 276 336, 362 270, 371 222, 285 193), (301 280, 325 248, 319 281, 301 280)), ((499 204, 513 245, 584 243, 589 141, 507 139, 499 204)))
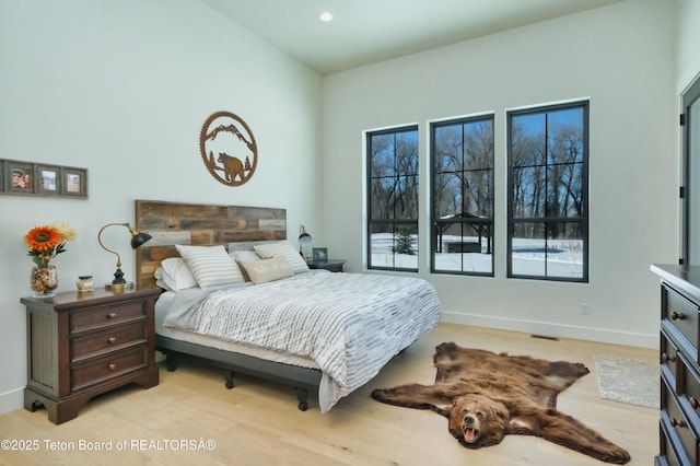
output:
POLYGON ((137 200, 136 228, 152 236, 136 281, 163 288, 167 369, 195 358, 222 368, 228 388, 245 373, 295 387, 301 410, 316 392, 327 412, 440 321, 425 280, 308 270, 284 209, 137 200))

